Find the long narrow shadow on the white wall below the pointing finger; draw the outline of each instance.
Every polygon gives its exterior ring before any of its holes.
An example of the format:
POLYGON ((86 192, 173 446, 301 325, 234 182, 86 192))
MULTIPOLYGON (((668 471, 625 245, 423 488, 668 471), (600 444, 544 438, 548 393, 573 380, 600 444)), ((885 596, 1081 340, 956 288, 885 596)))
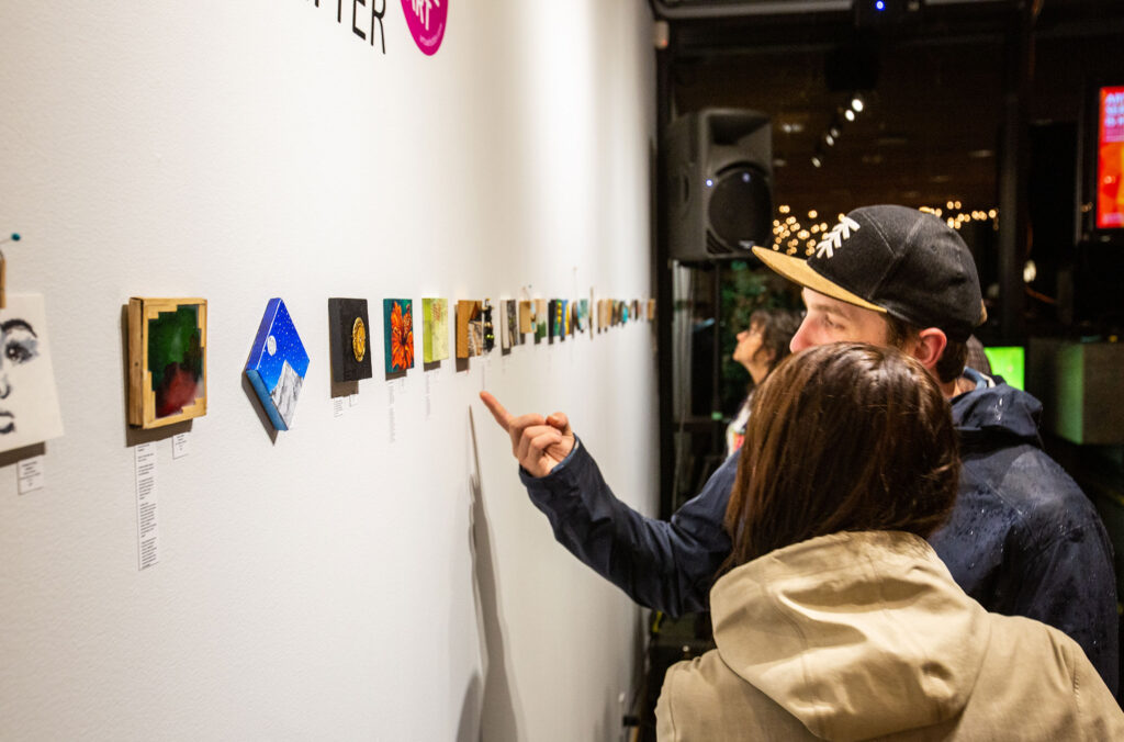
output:
POLYGON ((469 552, 472 558, 472 591, 477 604, 483 681, 473 676, 464 693, 457 742, 515 742, 518 740, 516 705, 499 614, 499 591, 491 531, 484 512, 475 423, 469 408, 469 552))

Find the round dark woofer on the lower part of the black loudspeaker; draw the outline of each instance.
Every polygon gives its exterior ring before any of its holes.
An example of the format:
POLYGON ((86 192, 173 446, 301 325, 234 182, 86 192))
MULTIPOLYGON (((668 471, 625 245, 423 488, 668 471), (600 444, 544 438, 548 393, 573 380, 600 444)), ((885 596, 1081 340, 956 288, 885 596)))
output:
POLYGON ((760 169, 745 163, 729 165, 718 172, 709 190, 708 253, 747 253, 754 245, 768 243, 772 197, 760 169))

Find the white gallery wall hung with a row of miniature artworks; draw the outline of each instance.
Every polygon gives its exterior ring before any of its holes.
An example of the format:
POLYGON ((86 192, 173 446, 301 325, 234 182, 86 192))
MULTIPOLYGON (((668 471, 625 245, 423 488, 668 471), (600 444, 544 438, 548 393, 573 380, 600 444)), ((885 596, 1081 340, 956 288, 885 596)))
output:
POLYGON ((554 542, 477 395, 565 410, 652 514, 654 325, 426 371, 420 299, 651 296, 650 11, 443 0, 429 56, 411 2, 0 10, 8 290, 45 298, 65 427, 0 455, 0 738, 620 739, 642 613, 554 542), (132 296, 208 300, 205 417, 126 424, 132 296), (274 296, 311 358, 279 434, 243 373, 274 296), (371 313, 374 378, 342 414, 329 297, 371 313), (415 300, 405 379, 381 370, 388 297, 415 300))

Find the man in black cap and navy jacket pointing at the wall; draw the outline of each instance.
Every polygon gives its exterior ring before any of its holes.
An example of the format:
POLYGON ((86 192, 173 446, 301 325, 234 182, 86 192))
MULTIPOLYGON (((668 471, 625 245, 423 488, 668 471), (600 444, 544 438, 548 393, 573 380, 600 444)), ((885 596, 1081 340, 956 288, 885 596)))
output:
MULTIPOLYGON (((1116 693, 1112 543, 1093 503, 1042 450, 1039 400, 964 365, 986 313, 959 233, 917 209, 868 206, 822 233, 807 260, 753 251, 804 287, 794 352, 864 342, 900 349, 928 369, 952 404, 963 462, 955 507, 930 543, 968 595, 1066 632, 1116 693)), ((671 616, 707 608, 731 550, 723 518, 738 455, 670 521, 650 518, 613 494, 564 414, 515 416, 487 391, 481 398, 559 543, 641 605, 671 616)))

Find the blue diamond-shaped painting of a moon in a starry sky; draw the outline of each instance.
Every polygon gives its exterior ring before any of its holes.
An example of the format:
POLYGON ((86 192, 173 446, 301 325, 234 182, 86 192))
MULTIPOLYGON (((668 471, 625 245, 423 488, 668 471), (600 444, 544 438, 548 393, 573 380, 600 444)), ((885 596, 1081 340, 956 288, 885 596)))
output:
POLYGON ((246 375, 273 427, 288 431, 308 372, 308 353, 284 301, 270 299, 246 362, 246 375))

